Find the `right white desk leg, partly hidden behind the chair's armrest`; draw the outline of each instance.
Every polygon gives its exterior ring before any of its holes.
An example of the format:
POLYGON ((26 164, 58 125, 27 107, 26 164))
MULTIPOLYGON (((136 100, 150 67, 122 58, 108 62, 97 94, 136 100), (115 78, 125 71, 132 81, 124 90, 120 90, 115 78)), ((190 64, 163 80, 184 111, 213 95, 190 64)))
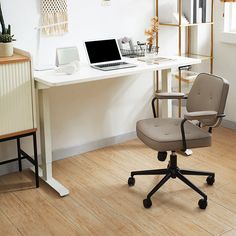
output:
MULTIPOLYGON (((171 78, 171 70, 162 70, 161 71, 161 87, 163 92, 171 92, 172 89, 172 78, 171 78)), ((162 109, 161 116, 164 117, 172 117, 172 101, 170 99, 161 100, 162 109)))

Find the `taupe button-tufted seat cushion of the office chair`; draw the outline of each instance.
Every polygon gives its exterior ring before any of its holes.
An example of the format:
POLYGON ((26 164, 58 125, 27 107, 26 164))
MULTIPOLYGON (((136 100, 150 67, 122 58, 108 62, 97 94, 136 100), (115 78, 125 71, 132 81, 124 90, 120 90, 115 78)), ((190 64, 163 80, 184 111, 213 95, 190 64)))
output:
MULTIPOLYGON (((148 147, 157 151, 179 151, 183 149, 181 135, 182 119, 152 118, 136 124, 138 138, 148 147)), ((211 134, 186 121, 184 124, 187 148, 211 146, 211 134)))

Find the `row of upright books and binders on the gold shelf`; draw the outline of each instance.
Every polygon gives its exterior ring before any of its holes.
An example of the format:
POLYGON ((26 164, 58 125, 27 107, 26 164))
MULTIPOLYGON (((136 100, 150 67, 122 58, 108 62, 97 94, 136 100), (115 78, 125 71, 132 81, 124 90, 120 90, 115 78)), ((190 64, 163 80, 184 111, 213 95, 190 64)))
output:
POLYGON ((210 0, 183 0, 183 14, 189 24, 211 21, 210 0))

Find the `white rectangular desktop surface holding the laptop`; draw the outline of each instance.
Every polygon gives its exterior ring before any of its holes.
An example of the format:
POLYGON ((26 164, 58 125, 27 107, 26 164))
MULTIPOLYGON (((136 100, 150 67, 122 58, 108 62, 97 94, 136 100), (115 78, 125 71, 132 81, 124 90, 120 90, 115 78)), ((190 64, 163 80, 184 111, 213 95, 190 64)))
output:
POLYGON ((57 73, 54 70, 48 71, 35 71, 34 77, 38 82, 38 88, 45 87, 57 87, 63 85, 84 83, 96 80, 103 80, 115 77, 128 76, 133 74, 138 74, 148 71, 158 71, 171 68, 177 68, 179 66, 200 64, 200 59, 188 58, 188 57, 166 57, 171 60, 160 62, 159 64, 148 65, 146 62, 138 61, 137 59, 125 58, 124 61, 136 64, 136 67, 111 70, 111 71, 101 71, 91 68, 88 64, 81 64, 79 71, 72 75, 65 75, 57 73))

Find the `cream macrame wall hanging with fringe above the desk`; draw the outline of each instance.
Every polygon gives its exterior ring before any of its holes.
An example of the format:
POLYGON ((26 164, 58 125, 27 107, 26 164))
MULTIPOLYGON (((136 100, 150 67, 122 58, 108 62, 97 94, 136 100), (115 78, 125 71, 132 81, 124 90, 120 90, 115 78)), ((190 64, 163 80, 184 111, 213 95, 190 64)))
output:
POLYGON ((47 36, 68 32, 67 0, 41 0, 42 33, 47 36))

